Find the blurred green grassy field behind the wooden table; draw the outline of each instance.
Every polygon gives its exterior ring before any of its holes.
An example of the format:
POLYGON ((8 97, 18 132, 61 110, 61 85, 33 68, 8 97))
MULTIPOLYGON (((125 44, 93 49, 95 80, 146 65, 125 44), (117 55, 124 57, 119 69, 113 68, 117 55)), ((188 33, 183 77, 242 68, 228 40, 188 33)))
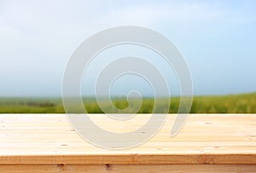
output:
MULTIPOLYGON (((160 99, 161 101, 161 99, 160 99)), ((166 107, 165 101, 162 101, 162 107, 166 107)), ((132 107, 137 101, 131 101, 132 107)), ((102 102, 103 107, 110 113, 113 110, 111 105, 102 102)), ((113 105, 119 109, 128 106, 124 98, 113 99, 113 105)), ((101 108, 93 98, 84 98, 84 107, 90 113, 102 113, 101 108)), ((154 99, 144 98, 140 113, 150 113, 153 111, 154 99)), ((179 98, 171 99, 170 112, 177 112, 179 107, 179 98)), ((161 113, 163 109, 159 107, 155 112, 161 113)), ((256 93, 243 95, 220 95, 220 96, 195 96, 191 113, 256 113, 256 93)), ((0 98, 0 113, 64 113, 61 98, 0 98)), ((128 113, 128 112, 127 112, 128 113)))

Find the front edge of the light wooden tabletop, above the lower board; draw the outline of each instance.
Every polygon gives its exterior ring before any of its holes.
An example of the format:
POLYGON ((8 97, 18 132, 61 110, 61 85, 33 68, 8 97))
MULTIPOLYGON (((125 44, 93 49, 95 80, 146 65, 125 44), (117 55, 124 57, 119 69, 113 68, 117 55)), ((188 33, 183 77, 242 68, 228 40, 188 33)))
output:
POLYGON ((1 156, 1 164, 255 164, 255 154, 88 153, 1 156))

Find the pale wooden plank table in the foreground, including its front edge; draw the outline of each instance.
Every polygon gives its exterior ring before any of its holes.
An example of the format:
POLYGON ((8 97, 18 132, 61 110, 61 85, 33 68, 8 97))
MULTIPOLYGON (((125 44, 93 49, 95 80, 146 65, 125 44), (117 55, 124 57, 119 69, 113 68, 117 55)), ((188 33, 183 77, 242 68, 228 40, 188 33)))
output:
MULTIPOLYGON (((108 130, 133 130, 149 115, 108 130)), ((191 114, 170 137, 176 115, 140 147, 112 151, 84 141, 65 114, 0 114, 0 172, 256 172, 256 115, 191 114)))

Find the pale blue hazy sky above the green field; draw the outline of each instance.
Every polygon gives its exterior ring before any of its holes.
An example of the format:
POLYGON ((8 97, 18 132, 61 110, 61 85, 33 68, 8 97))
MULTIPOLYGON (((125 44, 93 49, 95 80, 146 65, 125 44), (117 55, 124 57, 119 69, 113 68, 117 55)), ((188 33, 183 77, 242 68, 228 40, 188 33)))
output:
MULTIPOLYGON (((61 96, 74 50, 113 26, 148 27, 170 39, 189 65, 195 95, 256 91, 256 1, 0 0, 0 96, 61 96)), ((124 46, 102 58, 121 53, 149 54, 124 46)), ((99 55, 90 67, 89 81, 101 71, 101 60, 99 55)), ((173 70, 162 61, 154 65, 178 95, 173 70)), ((81 85, 84 95, 93 95, 90 82, 81 85)), ((131 89, 151 93, 145 81, 131 76, 117 80, 112 92, 131 89)))

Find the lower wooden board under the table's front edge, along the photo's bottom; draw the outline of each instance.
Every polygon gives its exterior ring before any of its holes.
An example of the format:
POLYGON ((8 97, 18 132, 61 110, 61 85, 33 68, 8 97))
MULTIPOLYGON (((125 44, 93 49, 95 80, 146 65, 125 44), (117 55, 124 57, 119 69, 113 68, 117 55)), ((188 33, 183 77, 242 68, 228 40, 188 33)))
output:
POLYGON ((4 173, 255 173, 253 164, 9 164, 4 173))

